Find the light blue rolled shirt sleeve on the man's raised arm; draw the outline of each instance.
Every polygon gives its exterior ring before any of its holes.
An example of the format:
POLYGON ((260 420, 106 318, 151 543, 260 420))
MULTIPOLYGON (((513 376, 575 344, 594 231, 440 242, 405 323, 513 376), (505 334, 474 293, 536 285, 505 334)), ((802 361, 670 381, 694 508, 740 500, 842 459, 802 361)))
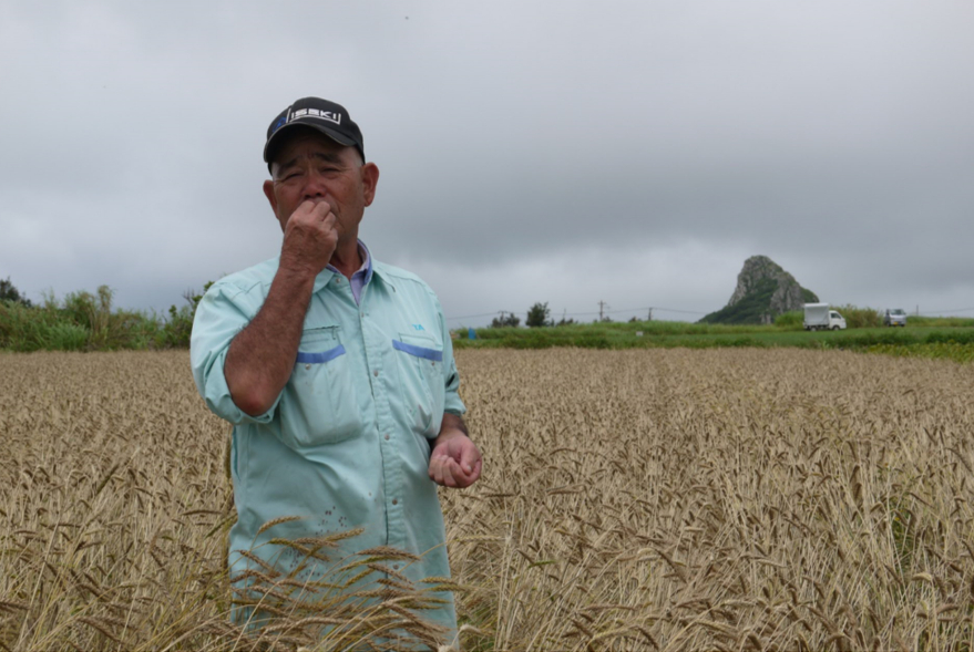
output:
POLYGON ((250 416, 237 407, 224 374, 227 351, 230 342, 257 314, 264 304, 260 286, 249 291, 235 287, 214 286, 199 301, 193 320, 193 334, 189 339, 189 361, 196 390, 206 406, 217 416, 233 424, 266 424, 274 418, 280 402, 280 394, 274 405, 258 416, 250 416))

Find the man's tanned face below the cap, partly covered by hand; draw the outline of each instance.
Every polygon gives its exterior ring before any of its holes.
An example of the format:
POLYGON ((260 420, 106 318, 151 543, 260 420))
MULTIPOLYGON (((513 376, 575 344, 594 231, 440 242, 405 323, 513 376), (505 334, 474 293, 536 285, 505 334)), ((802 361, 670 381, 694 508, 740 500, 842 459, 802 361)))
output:
POLYGON ((366 206, 376 196, 379 168, 373 163, 363 165, 355 147, 301 128, 278 148, 270 175, 264 194, 281 230, 303 203, 327 201, 336 217, 340 246, 358 237, 366 206))

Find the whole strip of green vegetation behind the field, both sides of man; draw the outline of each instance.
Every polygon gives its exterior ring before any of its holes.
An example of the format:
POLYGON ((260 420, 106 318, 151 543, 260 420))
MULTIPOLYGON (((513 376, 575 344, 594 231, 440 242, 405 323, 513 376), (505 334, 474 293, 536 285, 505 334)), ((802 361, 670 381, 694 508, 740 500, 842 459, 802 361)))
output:
MULTIPOLYGON (((206 283, 205 292, 213 283, 206 283)), ((773 291, 773 290, 772 290, 773 291)), ((203 293, 186 292, 186 304, 170 307, 167 315, 112 309, 113 291, 102 286, 95 293, 71 292, 59 301, 53 293, 40 304, 23 299, 10 279, 0 279, 0 351, 117 351, 124 349, 177 349, 189 346, 193 318, 203 293)), ((735 308, 738 308, 744 302, 735 308)), ((788 312, 773 325, 628 321, 574 323, 550 318, 547 303, 527 312, 534 328, 517 328, 514 313, 494 318, 492 328, 454 331, 457 349, 650 349, 719 346, 793 346, 842 349, 898 356, 974 360, 974 319, 913 317, 905 329, 882 328, 880 313, 871 308, 838 308, 849 330, 806 332, 801 312, 788 312)), ((744 314, 744 313, 741 313, 744 314)))

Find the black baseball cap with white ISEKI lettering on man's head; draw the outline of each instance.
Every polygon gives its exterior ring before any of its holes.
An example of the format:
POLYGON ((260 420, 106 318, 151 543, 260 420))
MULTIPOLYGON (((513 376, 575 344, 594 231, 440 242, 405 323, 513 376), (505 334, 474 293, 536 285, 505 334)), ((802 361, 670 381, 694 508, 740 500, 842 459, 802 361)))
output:
POLYGON ((320 97, 303 97, 281 111, 267 127, 264 161, 268 169, 277 148, 295 126, 317 130, 339 145, 355 147, 361 154, 362 162, 366 159, 362 132, 351 121, 345 106, 320 97))

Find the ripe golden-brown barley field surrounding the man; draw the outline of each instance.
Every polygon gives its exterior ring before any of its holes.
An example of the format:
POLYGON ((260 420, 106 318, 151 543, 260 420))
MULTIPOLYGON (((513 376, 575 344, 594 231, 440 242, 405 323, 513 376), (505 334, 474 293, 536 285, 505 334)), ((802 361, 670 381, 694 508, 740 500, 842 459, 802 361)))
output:
MULTIPOLYGON (((457 358, 485 464, 441 494, 455 649, 974 650, 970 364, 457 358)), ((278 581, 277 624, 228 622, 228 426, 185 351, 0 354, 0 650, 448 649, 394 550, 351 562, 369 600, 278 581)))

